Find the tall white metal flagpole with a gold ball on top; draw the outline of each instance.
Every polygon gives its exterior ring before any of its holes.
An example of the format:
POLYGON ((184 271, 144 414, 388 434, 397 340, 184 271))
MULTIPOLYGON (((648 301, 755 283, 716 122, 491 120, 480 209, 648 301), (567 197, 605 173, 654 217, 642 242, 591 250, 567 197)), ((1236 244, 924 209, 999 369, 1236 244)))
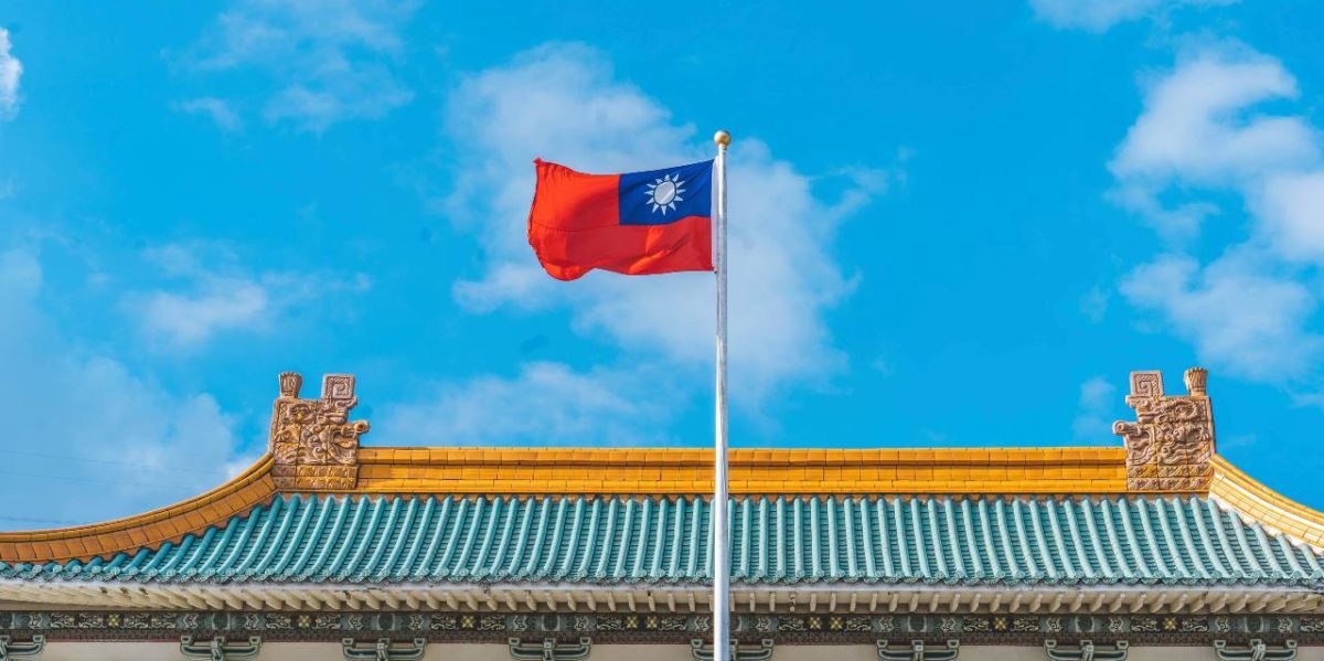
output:
POLYGON ((731 640, 731 551, 727 538, 727 146, 731 134, 712 136, 718 158, 712 164, 716 188, 718 343, 716 427, 712 466, 712 661, 728 661, 731 640))

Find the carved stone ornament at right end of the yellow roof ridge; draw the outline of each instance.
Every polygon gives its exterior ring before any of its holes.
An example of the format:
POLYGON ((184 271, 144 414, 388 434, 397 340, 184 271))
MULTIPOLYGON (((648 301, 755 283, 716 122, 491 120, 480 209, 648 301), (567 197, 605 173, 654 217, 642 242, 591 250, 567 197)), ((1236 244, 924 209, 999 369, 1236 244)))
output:
POLYGON ((1131 372, 1127 405, 1136 421, 1112 424, 1127 444, 1127 489, 1206 491, 1214 477, 1214 413, 1209 372, 1186 370, 1186 395, 1164 395, 1162 372, 1131 372))

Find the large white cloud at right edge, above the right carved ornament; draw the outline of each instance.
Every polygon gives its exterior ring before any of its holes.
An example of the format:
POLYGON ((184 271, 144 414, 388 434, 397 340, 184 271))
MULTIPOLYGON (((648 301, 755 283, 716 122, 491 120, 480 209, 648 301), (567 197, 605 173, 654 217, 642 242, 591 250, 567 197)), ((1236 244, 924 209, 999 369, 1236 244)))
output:
POLYGON ((1123 280, 1123 295, 1157 313, 1201 360, 1258 381, 1317 388, 1319 130, 1304 115, 1258 110, 1299 94, 1279 61, 1241 45, 1206 45, 1149 86, 1111 168, 1123 205, 1178 238, 1123 280), (1182 209, 1211 216, 1221 209, 1210 197, 1227 193, 1243 200, 1249 230, 1201 264, 1182 249, 1201 230, 1182 209))

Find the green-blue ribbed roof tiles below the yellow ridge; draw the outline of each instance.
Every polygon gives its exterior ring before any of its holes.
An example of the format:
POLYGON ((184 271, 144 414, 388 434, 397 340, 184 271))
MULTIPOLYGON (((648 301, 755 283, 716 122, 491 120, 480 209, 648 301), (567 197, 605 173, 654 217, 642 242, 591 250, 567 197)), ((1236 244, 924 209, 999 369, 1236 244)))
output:
MULTIPOLYGON (((736 583, 1274 584, 1321 556, 1207 497, 732 502, 736 583)), ((708 507, 679 497, 282 495, 205 533, 0 578, 142 583, 696 583, 708 507)))

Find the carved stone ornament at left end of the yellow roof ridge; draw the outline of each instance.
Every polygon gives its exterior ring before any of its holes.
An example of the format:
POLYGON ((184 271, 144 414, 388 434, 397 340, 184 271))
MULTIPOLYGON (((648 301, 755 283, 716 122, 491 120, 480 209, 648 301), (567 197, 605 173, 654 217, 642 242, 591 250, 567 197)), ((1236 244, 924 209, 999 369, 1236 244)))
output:
POLYGON ((302 385, 298 372, 281 374, 269 448, 275 458, 275 486, 298 491, 354 489, 359 480, 359 436, 368 431, 367 421, 350 421, 350 409, 359 403, 354 376, 323 376, 322 399, 299 399, 302 385))

